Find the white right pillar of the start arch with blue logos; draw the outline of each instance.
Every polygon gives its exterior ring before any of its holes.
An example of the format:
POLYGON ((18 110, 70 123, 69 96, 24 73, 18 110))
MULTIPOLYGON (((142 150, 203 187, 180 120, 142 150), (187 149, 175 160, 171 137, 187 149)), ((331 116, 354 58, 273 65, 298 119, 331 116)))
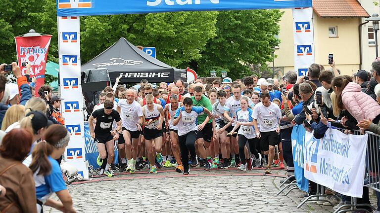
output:
POLYGON ((307 69, 315 62, 313 9, 293 8, 294 71, 306 75, 307 69))

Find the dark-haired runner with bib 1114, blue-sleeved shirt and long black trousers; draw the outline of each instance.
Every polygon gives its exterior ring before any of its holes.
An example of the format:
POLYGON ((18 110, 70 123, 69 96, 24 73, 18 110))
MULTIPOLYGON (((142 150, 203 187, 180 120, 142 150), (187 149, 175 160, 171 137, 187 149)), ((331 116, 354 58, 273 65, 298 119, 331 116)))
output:
POLYGON ((181 161, 184 166, 184 175, 189 175, 189 152, 191 156, 191 165, 196 166, 198 160, 195 154, 195 140, 198 134, 196 120, 198 115, 205 112, 210 118, 213 117, 211 112, 202 106, 192 106, 191 98, 184 99, 184 106, 176 110, 173 125, 178 124, 178 141, 181 149, 181 161))

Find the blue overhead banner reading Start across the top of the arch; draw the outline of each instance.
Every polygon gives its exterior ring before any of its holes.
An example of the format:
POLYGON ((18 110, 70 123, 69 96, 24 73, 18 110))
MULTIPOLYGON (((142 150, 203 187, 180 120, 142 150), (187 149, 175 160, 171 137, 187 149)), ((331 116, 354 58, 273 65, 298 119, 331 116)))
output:
POLYGON ((57 16, 311 7, 312 0, 56 0, 57 16))

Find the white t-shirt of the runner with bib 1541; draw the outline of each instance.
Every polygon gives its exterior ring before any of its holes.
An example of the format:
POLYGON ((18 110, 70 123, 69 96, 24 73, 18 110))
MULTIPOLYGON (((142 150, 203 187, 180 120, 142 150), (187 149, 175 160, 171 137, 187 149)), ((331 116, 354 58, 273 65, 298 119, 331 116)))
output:
POLYGON ((281 118, 281 109, 273 102, 268 107, 260 102, 253 108, 252 117, 260 122, 260 132, 276 131, 281 118))

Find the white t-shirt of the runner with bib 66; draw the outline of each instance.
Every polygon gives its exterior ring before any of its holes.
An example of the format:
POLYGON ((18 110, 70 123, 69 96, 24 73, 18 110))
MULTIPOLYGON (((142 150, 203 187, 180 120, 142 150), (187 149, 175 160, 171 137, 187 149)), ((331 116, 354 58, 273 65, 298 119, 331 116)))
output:
POLYGON ((122 126, 127 130, 137 131, 137 123, 139 123, 139 117, 142 116, 142 107, 137 101, 133 101, 132 104, 127 103, 127 99, 120 99, 117 104, 121 108, 122 114, 120 115, 122 120, 122 126))

